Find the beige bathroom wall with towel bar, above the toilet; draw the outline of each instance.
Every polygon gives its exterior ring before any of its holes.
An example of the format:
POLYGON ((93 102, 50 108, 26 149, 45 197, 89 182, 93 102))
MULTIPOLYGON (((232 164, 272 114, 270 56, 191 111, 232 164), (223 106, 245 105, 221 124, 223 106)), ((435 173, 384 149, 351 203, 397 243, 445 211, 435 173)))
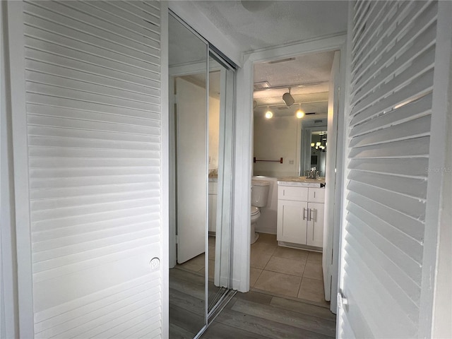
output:
POLYGON ((301 122, 296 117, 266 119, 254 116, 254 157, 280 162, 254 163, 254 175, 266 177, 299 176, 301 122))

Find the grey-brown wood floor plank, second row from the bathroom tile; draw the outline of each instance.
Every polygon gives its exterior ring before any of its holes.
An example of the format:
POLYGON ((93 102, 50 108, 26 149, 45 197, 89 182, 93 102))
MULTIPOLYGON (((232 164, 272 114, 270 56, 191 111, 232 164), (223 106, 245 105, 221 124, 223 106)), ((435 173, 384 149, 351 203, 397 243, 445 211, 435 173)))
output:
POLYGON ((267 319, 269 321, 276 321, 286 325, 303 328, 308 331, 335 336, 335 321, 329 321, 316 316, 309 316, 307 314, 298 314, 294 311, 287 311, 285 309, 276 309, 274 307, 249 302, 246 300, 237 300, 232 307, 232 310, 243 312, 252 316, 267 319))

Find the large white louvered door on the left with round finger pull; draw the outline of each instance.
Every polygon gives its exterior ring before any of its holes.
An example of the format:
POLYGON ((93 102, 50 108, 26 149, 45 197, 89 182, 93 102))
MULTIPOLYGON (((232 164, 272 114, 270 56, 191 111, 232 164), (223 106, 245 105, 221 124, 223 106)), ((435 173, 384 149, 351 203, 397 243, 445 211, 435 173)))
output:
POLYGON ((160 4, 12 1, 8 21, 21 337, 159 338, 160 4))

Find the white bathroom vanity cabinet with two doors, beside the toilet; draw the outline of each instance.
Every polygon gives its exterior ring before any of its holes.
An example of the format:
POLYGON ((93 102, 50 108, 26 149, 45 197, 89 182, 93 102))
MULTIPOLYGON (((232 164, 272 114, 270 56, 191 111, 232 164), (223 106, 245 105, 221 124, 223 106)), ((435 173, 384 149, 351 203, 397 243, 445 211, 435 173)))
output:
POLYGON ((278 186, 278 243, 321 248, 324 203, 324 188, 278 186))

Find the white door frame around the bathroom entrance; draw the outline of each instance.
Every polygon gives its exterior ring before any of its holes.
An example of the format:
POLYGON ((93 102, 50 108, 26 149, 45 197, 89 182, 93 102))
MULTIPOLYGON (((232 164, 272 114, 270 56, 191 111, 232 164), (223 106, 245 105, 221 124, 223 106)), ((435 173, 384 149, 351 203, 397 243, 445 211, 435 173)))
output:
MULTIPOLYGON (((251 190, 251 159, 253 148, 253 83, 254 63, 295 57, 300 54, 312 54, 333 50, 340 51, 340 88, 345 88, 345 55, 347 35, 340 34, 319 40, 300 42, 280 47, 273 47, 259 52, 244 55, 244 66, 237 72, 237 114, 235 140, 235 182, 234 182, 234 248, 233 248, 233 288, 240 292, 249 291, 250 264, 250 198, 251 190)), ((339 95, 338 109, 338 145, 337 172, 335 185, 335 215, 338 216, 333 226, 333 282, 338 280, 339 232, 342 218, 342 182, 343 182, 343 154, 344 154, 344 91, 339 95)), ((337 284, 332 284, 331 295, 337 294, 337 284)), ((331 309, 336 309, 335 297, 331 300, 331 309)))

